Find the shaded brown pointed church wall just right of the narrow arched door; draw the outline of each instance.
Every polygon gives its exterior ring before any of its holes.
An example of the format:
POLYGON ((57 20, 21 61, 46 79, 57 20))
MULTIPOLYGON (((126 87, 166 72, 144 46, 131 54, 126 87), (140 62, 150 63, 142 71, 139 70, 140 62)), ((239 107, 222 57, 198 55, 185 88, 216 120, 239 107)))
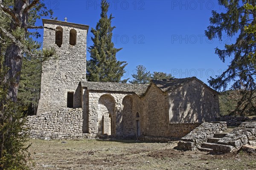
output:
POLYGON ((134 100, 134 113, 140 114, 141 135, 170 136, 168 95, 152 84, 145 96, 134 100))

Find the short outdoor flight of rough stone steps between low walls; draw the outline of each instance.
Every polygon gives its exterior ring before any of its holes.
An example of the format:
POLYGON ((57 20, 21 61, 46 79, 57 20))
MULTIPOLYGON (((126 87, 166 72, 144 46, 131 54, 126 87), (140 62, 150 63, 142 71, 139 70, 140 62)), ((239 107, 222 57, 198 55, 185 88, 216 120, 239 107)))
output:
POLYGON ((226 136, 230 132, 230 128, 227 129, 224 133, 214 133, 212 138, 208 138, 207 142, 202 143, 201 147, 198 147, 198 150, 207 151, 207 152, 221 152, 221 153, 230 153, 233 150, 233 146, 227 144, 221 144, 218 142, 221 138, 226 136))

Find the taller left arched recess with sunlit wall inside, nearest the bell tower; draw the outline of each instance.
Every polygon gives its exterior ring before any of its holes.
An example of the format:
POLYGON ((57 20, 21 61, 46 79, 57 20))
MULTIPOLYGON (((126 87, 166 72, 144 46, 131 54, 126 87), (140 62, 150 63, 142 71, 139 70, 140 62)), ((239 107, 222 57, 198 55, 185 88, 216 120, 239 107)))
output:
POLYGON ((115 133, 115 99, 110 94, 100 96, 98 102, 98 134, 113 135, 115 133))

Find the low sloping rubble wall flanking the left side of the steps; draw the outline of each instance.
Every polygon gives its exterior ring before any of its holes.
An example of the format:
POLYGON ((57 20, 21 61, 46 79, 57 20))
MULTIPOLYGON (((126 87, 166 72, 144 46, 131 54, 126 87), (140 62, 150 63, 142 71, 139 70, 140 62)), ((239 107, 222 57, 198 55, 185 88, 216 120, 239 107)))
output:
POLYGON ((221 133, 226 129, 226 122, 204 122, 181 138, 181 141, 178 143, 178 148, 191 150, 195 147, 201 147, 201 144, 207 142, 208 138, 212 138, 214 133, 221 133))

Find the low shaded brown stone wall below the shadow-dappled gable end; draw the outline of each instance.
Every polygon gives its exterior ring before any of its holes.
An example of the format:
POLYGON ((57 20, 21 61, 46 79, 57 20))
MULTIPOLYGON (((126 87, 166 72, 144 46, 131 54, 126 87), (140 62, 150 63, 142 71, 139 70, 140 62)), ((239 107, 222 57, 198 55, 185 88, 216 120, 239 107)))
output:
POLYGON ((195 123, 170 123, 170 137, 181 138, 186 136, 202 122, 195 123))

